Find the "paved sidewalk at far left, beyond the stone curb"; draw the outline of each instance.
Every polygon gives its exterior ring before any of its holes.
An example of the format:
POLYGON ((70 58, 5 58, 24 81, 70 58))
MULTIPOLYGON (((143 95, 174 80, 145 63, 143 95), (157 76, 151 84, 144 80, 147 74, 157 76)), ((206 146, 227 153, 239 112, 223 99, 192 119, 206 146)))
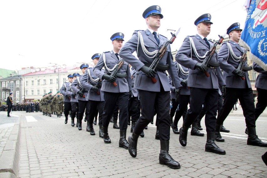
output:
POLYGON ((18 121, 18 115, 14 112, 7 117, 7 112, 0 112, 0 157, 8 141, 14 124, 18 121))

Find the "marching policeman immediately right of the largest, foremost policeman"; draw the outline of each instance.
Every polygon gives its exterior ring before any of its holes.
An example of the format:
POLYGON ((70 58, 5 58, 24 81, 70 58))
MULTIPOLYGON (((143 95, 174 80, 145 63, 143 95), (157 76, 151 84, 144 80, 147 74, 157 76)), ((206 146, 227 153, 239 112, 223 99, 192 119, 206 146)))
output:
MULTIPOLYGON (((206 66, 202 61, 206 57, 206 52, 213 45, 207 40, 211 30, 210 14, 203 14, 195 21, 197 34, 187 36, 180 49, 175 55, 175 60, 186 68, 189 68, 187 86, 190 87, 190 109, 187 110, 183 126, 180 128, 179 141, 182 146, 186 146, 186 137, 189 126, 196 119, 202 109, 202 104, 206 104, 205 124, 207 129, 207 142, 205 151, 216 154, 226 154, 215 143, 215 125, 218 103, 218 89, 225 90, 225 82, 222 79, 221 69, 214 66, 206 66), (205 75, 207 72, 210 77, 205 75)), ((217 53, 214 53, 212 62, 218 63, 217 53)))

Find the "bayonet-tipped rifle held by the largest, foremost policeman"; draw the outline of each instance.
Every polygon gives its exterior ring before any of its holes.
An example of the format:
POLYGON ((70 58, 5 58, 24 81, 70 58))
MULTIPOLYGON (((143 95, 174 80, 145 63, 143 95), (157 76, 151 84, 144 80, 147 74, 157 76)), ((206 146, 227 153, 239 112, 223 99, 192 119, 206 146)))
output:
MULTIPOLYGON (((160 60, 162 59, 162 57, 163 57, 164 54, 166 53, 167 47, 169 46, 169 44, 172 44, 172 43, 173 43, 173 41, 175 40, 177 34, 180 32, 180 29, 181 29, 181 28, 179 28, 175 34, 174 34, 174 33, 170 33, 170 34, 171 34, 171 38, 170 38, 170 40, 167 41, 167 42, 165 43, 165 45, 163 45, 163 46, 160 48, 160 51, 158 51, 158 53, 156 53, 156 55, 155 55, 155 57, 154 57, 154 61, 152 62, 152 64, 151 64, 150 67, 149 67, 150 69, 153 69, 154 71, 156 71, 157 66, 158 66, 158 64, 160 63, 160 60)), ((156 82, 157 82, 157 80, 155 79, 155 77, 152 77, 151 79, 152 79, 152 82, 153 82, 153 83, 156 83, 156 82)))

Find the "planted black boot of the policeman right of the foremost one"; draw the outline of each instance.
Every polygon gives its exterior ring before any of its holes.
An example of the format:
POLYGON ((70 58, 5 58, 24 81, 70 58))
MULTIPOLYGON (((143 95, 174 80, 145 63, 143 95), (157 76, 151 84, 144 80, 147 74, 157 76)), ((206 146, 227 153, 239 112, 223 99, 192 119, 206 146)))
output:
POLYGON ((214 142, 215 132, 207 132, 207 142, 205 146, 205 151, 216 153, 219 155, 225 155, 226 152, 220 149, 214 142))

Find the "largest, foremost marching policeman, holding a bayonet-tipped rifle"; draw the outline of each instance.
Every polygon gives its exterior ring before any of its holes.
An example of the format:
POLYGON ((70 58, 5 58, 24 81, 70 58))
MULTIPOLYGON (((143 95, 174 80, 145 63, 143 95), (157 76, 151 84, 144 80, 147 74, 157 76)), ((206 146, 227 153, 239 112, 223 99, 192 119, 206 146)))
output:
POLYGON ((134 88, 139 90, 140 104, 142 107, 141 117, 137 120, 133 134, 129 136, 129 153, 132 157, 137 155, 137 141, 139 135, 154 117, 156 109, 159 120, 160 135, 160 164, 168 165, 172 169, 179 169, 180 164, 169 155, 170 140, 170 85, 165 70, 168 70, 172 78, 176 96, 180 92, 180 81, 173 63, 170 46, 160 60, 157 70, 149 68, 154 60, 157 50, 168 39, 158 33, 160 20, 163 18, 160 6, 154 5, 147 8, 143 13, 147 29, 145 31, 135 31, 132 38, 125 43, 120 51, 120 55, 131 64, 137 71, 134 88), (137 59, 132 53, 137 51, 137 59), (157 82, 153 83, 151 78, 157 82))

